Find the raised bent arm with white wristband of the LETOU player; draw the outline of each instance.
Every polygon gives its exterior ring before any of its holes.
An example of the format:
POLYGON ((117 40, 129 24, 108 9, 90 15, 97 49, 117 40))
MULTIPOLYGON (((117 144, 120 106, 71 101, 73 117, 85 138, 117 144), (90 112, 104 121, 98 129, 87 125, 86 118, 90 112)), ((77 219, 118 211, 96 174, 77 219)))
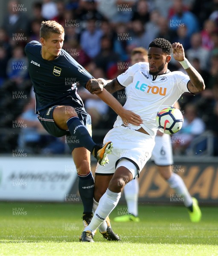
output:
POLYGON ((194 67, 189 63, 185 58, 185 52, 183 45, 180 43, 172 44, 173 57, 176 61, 179 61, 183 68, 186 70, 190 81, 187 84, 187 87, 191 93, 198 93, 205 89, 205 84, 202 76, 195 70, 194 67))

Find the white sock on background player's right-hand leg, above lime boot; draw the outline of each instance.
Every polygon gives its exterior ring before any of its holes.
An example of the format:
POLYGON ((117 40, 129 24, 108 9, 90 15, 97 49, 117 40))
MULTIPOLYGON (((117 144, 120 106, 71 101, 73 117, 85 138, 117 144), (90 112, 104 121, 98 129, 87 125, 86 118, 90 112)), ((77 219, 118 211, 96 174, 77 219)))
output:
POLYGON ((172 173, 171 177, 167 180, 169 186, 177 192, 182 198, 184 198, 184 205, 189 207, 192 205, 192 197, 186 188, 183 179, 176 173, 172 173))

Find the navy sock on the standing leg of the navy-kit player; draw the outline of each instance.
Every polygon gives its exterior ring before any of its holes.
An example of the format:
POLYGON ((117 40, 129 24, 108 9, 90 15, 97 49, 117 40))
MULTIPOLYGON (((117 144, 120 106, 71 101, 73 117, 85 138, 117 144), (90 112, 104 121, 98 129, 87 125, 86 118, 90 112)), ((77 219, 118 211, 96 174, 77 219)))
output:
POLYGON ((91 172, 87 175, 79 175, 79 194, 83 204, 83 213, 92 212, 94 197, 94 179, 91 172))

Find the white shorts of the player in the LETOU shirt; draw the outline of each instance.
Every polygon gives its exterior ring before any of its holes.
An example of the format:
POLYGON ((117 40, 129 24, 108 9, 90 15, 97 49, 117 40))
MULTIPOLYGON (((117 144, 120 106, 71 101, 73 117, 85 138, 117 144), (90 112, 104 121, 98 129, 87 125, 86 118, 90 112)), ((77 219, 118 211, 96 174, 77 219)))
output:
POLYGON ((108 141, 112 141, 113 151, 108 155, 108 164, 97 164, 97 175, 113 174, 119 159, 122 158, 134 163, 140 173, 154 148, 154 137, 123 126, 111 129, 106 134, 104 143, 108 141))

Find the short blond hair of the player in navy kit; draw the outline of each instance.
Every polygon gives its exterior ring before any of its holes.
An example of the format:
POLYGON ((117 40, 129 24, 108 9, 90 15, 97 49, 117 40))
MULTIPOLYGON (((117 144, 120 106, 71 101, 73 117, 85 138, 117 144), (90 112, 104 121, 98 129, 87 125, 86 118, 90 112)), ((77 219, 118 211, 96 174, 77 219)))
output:
POLYGON ((50 33, 63 34, 64 28, 55 20, 43 21, 40 28, 40 38, 48 39, 50 33))

